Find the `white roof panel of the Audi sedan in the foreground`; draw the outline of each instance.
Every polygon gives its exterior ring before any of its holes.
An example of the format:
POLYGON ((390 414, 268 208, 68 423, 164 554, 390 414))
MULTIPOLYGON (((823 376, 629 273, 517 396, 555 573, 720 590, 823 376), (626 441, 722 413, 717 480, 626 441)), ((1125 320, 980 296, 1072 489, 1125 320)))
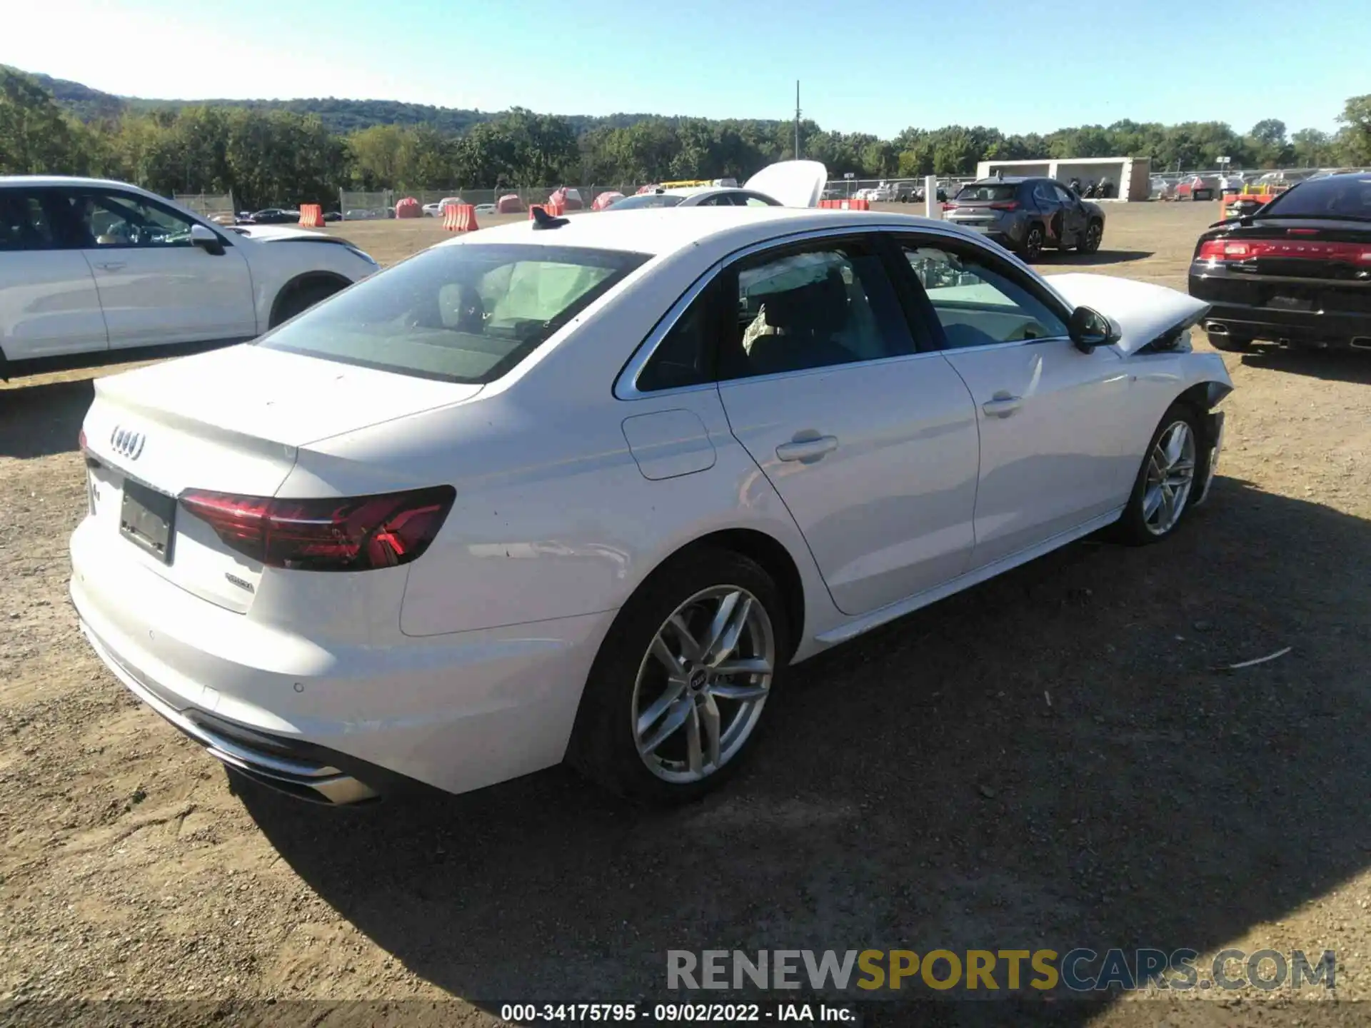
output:
POLYGON ((511 244, 588 247, 635 254, 665 255, 692 245, 717 247, 720 255, 791 233, 812 229, 866 229, 879 225, 909 229, 942 228, 980 238, 945 221, 884 211, 836 211, 812 207, 654 207, 620 211, 613 218, 576 214, 558 229, 533 230, 517 222, 458 236, 439 247, 511 244))

